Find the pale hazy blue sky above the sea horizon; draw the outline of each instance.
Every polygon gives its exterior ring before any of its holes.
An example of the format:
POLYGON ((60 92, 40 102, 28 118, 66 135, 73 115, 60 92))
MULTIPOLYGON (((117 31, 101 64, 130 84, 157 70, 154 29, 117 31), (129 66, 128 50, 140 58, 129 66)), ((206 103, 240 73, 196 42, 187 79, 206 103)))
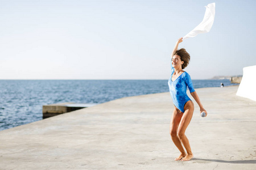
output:
POLYGON ((256 1, 0 0, 0 79, 168 79, 171 52, 216 3, 212 29, 184 40, 192 79, 256 65, 256 1))

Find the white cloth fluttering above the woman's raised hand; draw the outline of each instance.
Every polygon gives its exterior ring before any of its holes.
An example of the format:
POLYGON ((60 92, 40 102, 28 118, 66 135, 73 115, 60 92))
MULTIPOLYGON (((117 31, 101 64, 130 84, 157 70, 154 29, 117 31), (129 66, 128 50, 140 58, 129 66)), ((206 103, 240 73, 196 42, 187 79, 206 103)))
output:
POLYGON ((206 11, 204 14, 203 21, 196 26, 191 32, 183 37, 183 40, 187 39, 188 37, 195 37, 199 33, 209 32, 210 28, 212 28, 212 24, 214 22, 215 16, 215 3, 209 3, 206 7, 206 11))

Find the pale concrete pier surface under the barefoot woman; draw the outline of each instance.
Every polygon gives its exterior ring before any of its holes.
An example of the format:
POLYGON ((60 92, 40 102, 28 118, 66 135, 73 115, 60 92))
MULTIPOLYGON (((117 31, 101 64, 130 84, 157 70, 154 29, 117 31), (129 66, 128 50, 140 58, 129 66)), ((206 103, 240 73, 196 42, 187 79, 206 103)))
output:
POLYGON ((174 161, 166 92, 0 131, 0 169, 256 169, 256 102, 236 96, 237 88, 196 89, 208 116, 200 117, 194 101, 189 162, 174 161))

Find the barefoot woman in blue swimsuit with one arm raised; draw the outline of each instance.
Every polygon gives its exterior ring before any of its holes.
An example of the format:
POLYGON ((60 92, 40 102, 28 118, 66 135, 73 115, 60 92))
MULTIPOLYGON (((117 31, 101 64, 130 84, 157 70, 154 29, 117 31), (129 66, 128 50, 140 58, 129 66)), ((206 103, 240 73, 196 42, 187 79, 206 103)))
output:
POLYGON ((171 77, 168 80, 172 101, 174 102, 174 112, 172 113, 170 122, 170 134, 172 141, 181 153, 175 160, 187 161, 193 158, 193 153, 188 138, 185 136, 185 130, 191 121, 194 111, 194 104, 187 95, 187 86, 200 107, 200 113, 205 112, 207 116, 207 111, 205 111, 199 96, 193 88, 189 74, 183 71, 189 63, 190 56, 184 48, 177 50, 179 43, 183 41, 182 39, 177 40, 172 51, 172 71, 171 77))

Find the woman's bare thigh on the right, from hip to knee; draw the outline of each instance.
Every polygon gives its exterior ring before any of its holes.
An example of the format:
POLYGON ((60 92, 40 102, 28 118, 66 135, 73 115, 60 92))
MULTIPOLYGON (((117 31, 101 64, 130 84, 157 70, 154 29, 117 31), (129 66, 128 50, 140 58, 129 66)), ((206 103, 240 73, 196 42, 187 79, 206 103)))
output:
POLYGON ((185 130, 187 129, 192 116, 194 112, 194 104, 191 100, 189 100, 185 106, 184 106, 184 113, 183 116, 181 117, 179 128, 178 128, 178 133, 179 134, 185 134, 185 130))

